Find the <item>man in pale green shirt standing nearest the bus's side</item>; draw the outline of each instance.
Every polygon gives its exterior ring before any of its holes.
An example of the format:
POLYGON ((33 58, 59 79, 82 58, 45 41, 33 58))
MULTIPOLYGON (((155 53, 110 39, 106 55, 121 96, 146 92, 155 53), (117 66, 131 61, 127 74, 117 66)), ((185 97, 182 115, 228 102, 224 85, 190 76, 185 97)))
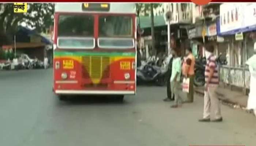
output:
POLYGON ((175 97, 175 103, 171 108, 181 107, 182 99, 180 97, 180 75, 181 75, 181 59, 176 50, 173 50, 172 76, 170 79, 172 93, 175 97))

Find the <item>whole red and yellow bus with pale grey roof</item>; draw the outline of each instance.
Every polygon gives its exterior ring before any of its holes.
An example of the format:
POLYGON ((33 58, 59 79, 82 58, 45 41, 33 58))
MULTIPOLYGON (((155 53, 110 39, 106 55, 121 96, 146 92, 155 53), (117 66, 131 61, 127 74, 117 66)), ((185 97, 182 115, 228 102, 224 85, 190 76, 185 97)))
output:
POLYGON ((134 3, 57 3, 53 91, 65 95, 136 94, 134 3))

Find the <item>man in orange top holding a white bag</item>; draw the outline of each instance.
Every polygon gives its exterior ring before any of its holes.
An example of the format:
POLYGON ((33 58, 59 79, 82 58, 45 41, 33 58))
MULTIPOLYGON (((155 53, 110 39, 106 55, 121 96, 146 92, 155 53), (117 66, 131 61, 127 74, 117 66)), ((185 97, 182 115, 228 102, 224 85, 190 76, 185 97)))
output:
POLYGON ((186 56, 182 64, 182 74, 185 78, 189 78, 189 93, 187 93, 187 101, 184 103, 193 103, 194 101, 194 76, 195 76, 195 57, 192 54, 192 49, 186 49, 186 56))

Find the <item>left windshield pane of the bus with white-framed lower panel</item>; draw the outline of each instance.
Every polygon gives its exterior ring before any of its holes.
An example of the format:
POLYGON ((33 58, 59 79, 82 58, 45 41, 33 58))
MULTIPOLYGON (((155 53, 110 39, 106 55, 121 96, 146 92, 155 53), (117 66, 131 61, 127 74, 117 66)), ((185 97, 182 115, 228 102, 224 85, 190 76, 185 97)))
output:
POLYGON ((90 15, 60 15, 58 23, 58 47, 93 49, 94 17, 90 15))

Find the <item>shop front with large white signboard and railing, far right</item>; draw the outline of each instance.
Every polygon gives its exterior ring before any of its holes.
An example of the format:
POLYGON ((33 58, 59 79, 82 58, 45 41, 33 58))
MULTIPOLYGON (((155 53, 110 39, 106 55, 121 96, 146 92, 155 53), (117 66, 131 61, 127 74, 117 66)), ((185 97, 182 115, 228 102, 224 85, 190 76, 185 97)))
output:
POLYGON ((222 4, 217 22, 218 36, 229 40, 229 64, 221 66, 220 79, 226 84, 242 87, 244 93, 249 88, 249 71, 245 62, 253 55, 256 41, 255 7, 256 3, 222 4))

